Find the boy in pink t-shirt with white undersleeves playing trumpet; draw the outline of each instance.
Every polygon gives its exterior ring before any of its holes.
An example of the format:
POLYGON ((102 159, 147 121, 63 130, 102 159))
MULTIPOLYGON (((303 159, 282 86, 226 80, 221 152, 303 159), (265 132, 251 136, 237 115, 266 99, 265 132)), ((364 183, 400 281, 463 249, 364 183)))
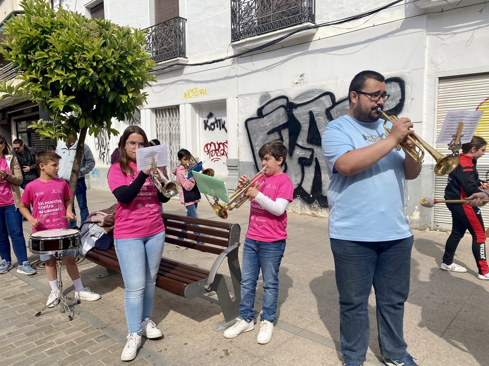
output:
MULTIPOLYGON (((282 172, 287 157, 287 147, 282 142, 267 142, 258 155, 265 168, 265 183, 259 189, 253 186, 244 193, 252 201, 243 245, 240 317, 224 331, 224 337, 235 338, 254 329, 256 285, 261 269, 264 294, 256 341, 264 345, 272 338, 277 313, 278 273, 287 239, 286 210, 293 200, 294 187, 287 174, 282 172)), ((247 180, 245 175, 240 177, 238 188, 242 188, 247 180)), ((259 180, 257 184, 261 182, 259 180)))

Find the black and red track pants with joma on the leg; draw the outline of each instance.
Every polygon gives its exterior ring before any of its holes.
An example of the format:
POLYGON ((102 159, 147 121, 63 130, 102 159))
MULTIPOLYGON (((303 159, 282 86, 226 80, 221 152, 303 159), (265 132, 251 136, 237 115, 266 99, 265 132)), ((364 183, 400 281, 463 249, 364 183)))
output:
POLYGON ((446 240, 443 263, 453 263, 455 250, 468 230, 472 235, 472 253, 479 268, 479 274, 489 273, 486 259, 486 233, 481 210, 467 204, 447 203, 446 206, 452 213, 452 232, 446 240))

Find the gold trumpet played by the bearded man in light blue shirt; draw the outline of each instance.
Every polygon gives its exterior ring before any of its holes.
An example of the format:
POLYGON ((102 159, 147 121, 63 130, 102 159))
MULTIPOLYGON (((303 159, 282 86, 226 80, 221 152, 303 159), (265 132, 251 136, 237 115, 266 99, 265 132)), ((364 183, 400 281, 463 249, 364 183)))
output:
MULTIPOLYGON (((394 124, 398 118, 396 116, 387 115, 380 107, 377 107, 377 112, 382 115, 385 120, 384 129, 385 133, 388 135, 391 132, 391 129, 387 128, 386 122, 390 121, 392 124, 394 124)), ((413 158, 419 164, 422 163, 424 158, 424 150, 426 150, 436 161, 434 169, 436 175, 445 175, 452 172, 460 162, 460 158, 456 155, 456 153, 443 156, 415 133, 407 135, 406 138, 411 142, 411 145, 407 143, 400 143, 396 146, 396 148, 398 150, 402 148, 406 154, 409 154, 409 156, 411 156, 411 158, 413 158)))

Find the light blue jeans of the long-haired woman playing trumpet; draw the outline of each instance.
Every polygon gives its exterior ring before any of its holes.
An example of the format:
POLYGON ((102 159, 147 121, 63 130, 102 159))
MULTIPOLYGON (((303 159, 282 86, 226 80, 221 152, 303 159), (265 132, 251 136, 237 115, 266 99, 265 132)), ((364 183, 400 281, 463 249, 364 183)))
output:
POLYGON ((141 334, 141 322, 151 318, 165 230, 144 238, 114 239, 124 279, 124 307, 129 334, 141 334))

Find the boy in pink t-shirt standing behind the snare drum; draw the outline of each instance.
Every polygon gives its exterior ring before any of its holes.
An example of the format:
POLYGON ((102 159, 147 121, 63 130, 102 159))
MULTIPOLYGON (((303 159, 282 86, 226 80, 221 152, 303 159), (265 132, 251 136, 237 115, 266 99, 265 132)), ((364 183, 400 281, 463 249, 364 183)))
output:
MULTIPOLYGON (((20 211, 31 224, 33 233, 48 229, 67 229, 69 224, 66 218, 70 221, 76 220, 76 216, 71 212, 71 191, 68 184, 61 178, 55 178, 60 159, 61 157, 53 151, 40 151, 36 155, 36 166, 41 176, 25 186, 20 206, 20 211), (28 210, 30 204, 32 214, 28 210)), ((63 262, 75 286, 75 300, 98 300, 99 294, 82 285, 75 262, 76 251, 77 249, 63 253, 63 262)), ((40 257, 46 265, 46 275, 51 286, 51 294, 46 305, 54 307, 60 295, 56 260, 52 254, 41 254, 40 257)))

